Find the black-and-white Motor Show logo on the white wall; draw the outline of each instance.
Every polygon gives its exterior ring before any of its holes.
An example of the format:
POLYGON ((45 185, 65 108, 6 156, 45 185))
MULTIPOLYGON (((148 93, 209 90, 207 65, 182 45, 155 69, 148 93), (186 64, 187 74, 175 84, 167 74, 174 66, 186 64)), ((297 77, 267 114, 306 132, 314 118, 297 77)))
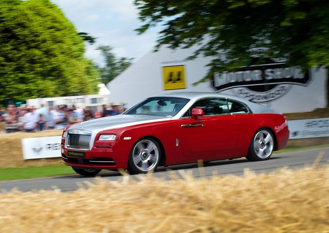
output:
POLYGON ((289 91, 293 85, 307 86, 311 76, 284 62, 241 67, 235 72, 215 73, 213 87, 217 92, 232 89, 235 95, 256 103, 272 102, 289 91))

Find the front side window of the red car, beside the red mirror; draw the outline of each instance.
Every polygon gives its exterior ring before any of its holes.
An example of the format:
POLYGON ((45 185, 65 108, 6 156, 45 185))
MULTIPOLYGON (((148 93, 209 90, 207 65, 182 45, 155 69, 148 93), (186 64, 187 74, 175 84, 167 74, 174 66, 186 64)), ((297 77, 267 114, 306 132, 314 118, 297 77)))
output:
POLYGON ((226 100, 221 98, 207 98, 198 100, 182 117, 191 116, 192 108, 202 108, 205 115, 222 115, 229 113, 226 100))

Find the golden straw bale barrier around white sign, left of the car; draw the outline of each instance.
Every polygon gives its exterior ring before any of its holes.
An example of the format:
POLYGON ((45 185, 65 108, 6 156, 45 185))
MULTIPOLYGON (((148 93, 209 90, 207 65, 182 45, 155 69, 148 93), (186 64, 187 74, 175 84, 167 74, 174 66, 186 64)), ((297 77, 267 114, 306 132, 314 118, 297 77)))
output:
POLYGON ((28 167, 60 164, 61 158, 23 160, 22 139, 62 135, 62 130, 45 130, 41 132, 1 133, 0 134, 0 167, 28 167))

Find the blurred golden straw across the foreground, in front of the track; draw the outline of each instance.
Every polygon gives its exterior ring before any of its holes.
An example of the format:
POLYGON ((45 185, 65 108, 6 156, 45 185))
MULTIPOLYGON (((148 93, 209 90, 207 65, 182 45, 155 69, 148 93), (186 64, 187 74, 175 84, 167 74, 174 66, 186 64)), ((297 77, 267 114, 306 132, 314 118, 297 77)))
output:
MULTIPOLYGON (((200 168, 202 169, 202 168, 200 168)), ((329 232, 329 166, 0 194, 2 232, 329 232)))

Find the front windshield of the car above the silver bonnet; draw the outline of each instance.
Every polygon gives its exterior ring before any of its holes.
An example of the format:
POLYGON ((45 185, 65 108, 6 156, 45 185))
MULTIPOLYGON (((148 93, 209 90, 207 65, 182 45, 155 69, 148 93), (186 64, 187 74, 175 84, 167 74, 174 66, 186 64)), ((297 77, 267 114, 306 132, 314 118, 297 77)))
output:
POLYGON ((142 101, 123 114, 174 116, 189 101, 189 99, 177 97, 152 97, 142 101))

